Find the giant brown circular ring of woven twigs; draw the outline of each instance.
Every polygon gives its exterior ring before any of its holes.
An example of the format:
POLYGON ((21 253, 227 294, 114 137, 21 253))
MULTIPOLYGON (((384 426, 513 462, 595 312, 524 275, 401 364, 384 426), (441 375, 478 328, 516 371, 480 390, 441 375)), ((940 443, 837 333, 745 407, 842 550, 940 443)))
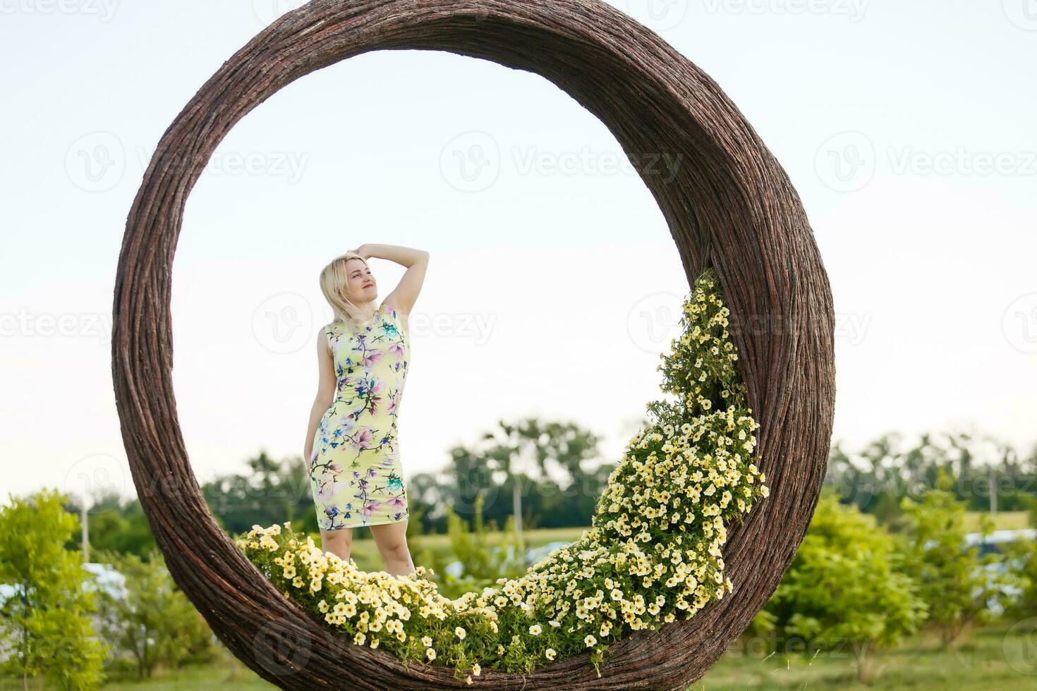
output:
POLYGON ((137 493, 173 578, 228 647, 286 689, 447 689, 447 667, 404 665, 330 632, 217 525, 191 469, 172 386, 171 267, 184 208, 214 150, 290 82, 374 50, 439 50, 541 75, 613 133, 663 210, 691 284, 716 268, 770 496, 724 548, 733 593, 694 617, 494 689, 684 689, 774 593, 806 532, 835 405, 832 294, 800 199, 721 89, 658 35, 596 0, 313 0, 235 53, 163 135, 127 221, 112 370, 137 493), (671 162, 667 169, 661 162, 671 162), (673 163, 676 162, 676 163, 673 163))

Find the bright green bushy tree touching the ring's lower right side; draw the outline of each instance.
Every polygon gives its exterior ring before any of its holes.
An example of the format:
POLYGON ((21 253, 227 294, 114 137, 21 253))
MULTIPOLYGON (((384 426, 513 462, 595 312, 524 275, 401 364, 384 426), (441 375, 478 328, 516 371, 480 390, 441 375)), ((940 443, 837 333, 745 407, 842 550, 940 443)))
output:
POLYGON ((873 653, 925 617, 925 602, 897 566, 888 532, 824 494, 767 608, 786 637, 801 636, 811 647, 848 645, 858 676, 868 680, 879 671, 873 653))

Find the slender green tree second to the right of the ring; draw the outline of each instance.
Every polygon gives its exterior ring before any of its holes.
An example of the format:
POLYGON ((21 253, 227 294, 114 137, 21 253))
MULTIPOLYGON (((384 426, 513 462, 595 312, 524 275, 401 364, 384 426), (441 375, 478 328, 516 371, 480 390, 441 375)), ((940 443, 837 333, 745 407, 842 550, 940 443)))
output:
MULTIPOLYGON (((951 482, 941 470, 935 489, 920 500, 903 498, 896 538, 903 571, 925 601, 927 621, 938 631, 943 647, 965 626, 988 621, 987 600, 998 594, 984 569, 993 555, 981 557, 979 546, 965 542, 965 502, 948 491, 951 482)), ((992 530, 993 521, 981 515, 980 532, 992 530)))

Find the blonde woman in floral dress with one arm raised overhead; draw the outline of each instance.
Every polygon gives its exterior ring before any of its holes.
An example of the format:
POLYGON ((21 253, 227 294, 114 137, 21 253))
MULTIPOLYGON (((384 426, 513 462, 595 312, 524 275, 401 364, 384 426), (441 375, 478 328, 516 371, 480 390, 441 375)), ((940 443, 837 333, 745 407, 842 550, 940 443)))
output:
POLYGON ((320 271, 335 316, 317 334, 319 384, 304 458, 321 548, 348 559, 353 528, 366 525, 396 576, 415 570, 396 420, 411 354, 408 315, 427 267, 423 250, 361 244, 320 271), (369 257, 407 267, 381 305, 369 257))

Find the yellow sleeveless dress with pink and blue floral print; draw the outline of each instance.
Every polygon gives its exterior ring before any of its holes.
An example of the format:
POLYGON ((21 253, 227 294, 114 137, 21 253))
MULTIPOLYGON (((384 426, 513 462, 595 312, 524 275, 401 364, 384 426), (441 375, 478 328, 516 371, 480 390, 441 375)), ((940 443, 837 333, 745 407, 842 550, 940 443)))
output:
POLYGON ((354 330, 324 328, 336 392, 317 425, 310 488, 317 525, 336 530, 408 518, 396 418, 411 356, 399 315, 383 303, 354 330))

